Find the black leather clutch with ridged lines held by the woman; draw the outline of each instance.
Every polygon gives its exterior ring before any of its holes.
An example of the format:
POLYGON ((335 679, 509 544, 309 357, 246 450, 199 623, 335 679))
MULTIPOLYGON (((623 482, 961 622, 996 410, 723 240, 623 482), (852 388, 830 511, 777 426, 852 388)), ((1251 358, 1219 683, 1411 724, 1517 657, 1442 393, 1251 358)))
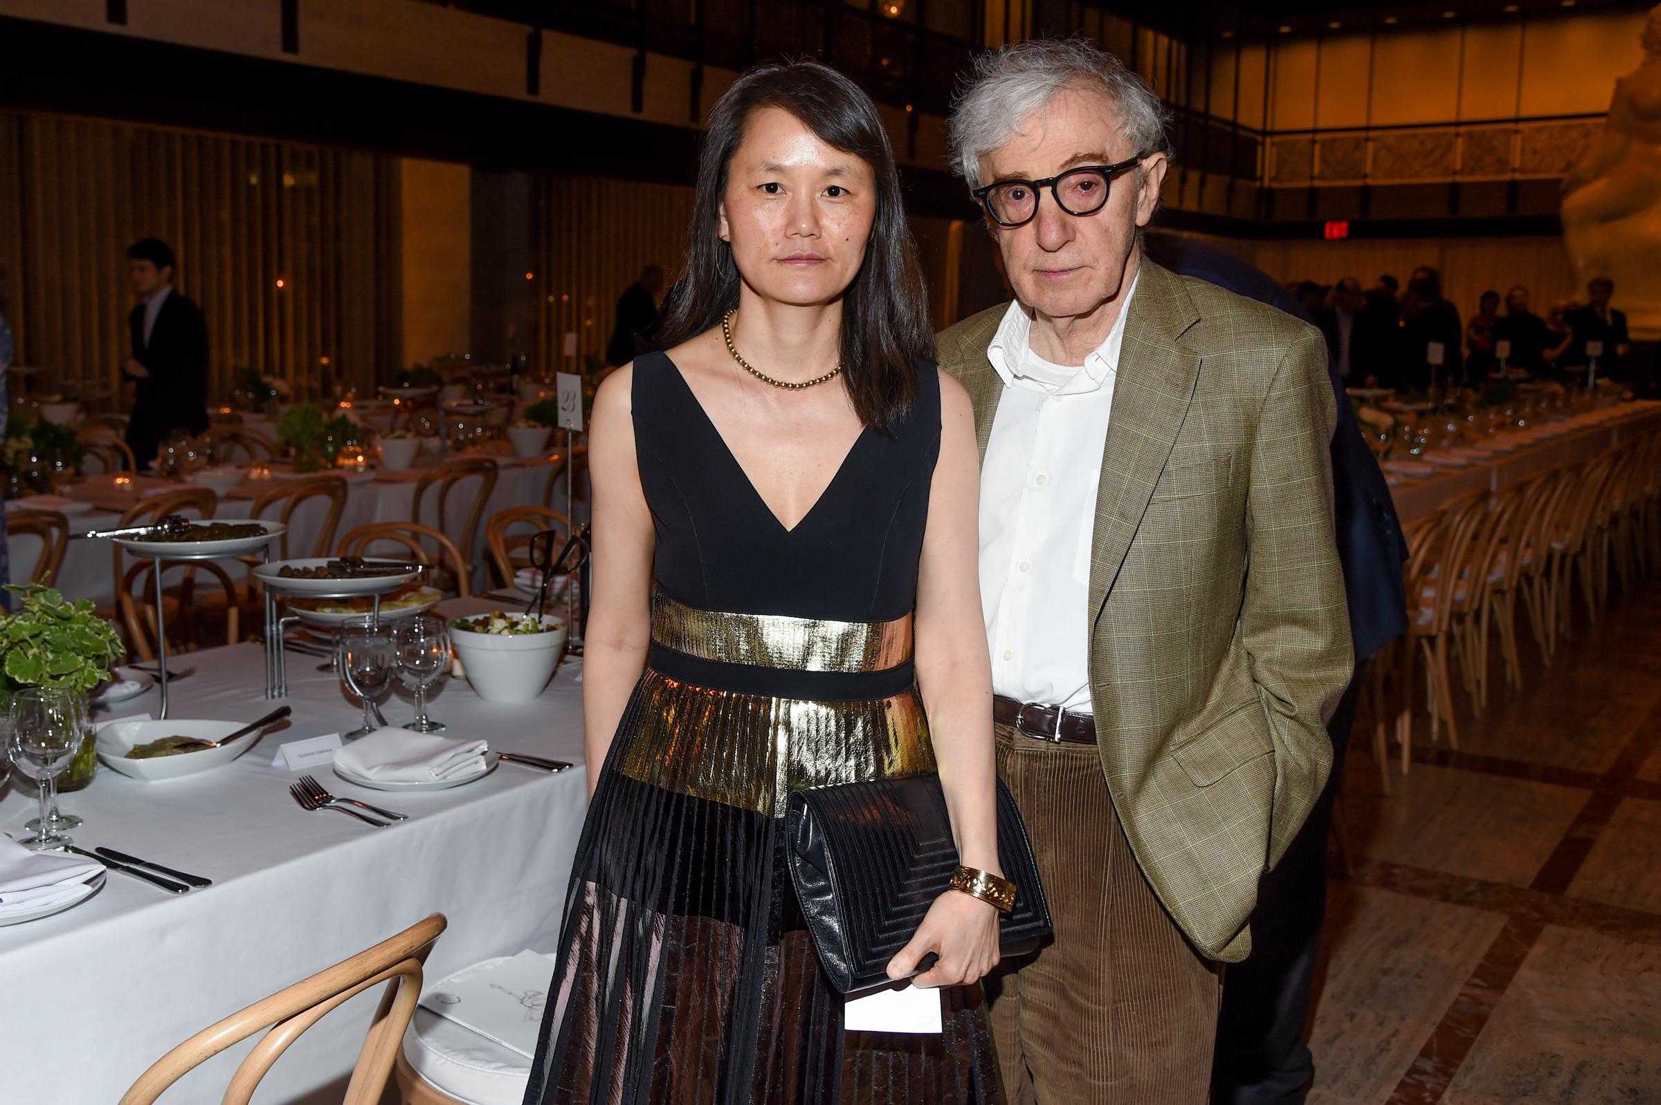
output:
MULTIPOLYGON (((791 881, 830 984, 852 994, 889 982, 887 965, 957 871, 940 776, 919 774, 792 791, 784 813, 791 881)), ((1026 826, 998 783, 998 861, 1015 884, 1000 914, 1003 955, 1050 936, 1026 826)))

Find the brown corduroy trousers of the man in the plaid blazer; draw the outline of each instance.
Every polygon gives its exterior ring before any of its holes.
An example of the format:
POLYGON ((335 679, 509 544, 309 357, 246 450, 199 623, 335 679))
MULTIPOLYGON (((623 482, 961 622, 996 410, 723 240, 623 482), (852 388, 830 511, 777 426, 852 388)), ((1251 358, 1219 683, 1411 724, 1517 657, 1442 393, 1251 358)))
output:
POLYGON ((1204 1105, 1221 965, 1143 877, 1096 749, 997 738, 1055 916, 1053 944, 985 980, 1008 1105, 1204 1105))

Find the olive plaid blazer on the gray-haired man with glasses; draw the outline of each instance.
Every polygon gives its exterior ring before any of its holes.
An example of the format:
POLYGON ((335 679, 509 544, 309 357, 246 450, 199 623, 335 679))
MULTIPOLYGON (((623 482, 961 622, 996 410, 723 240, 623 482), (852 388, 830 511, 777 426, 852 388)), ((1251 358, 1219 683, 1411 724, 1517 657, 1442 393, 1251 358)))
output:
MULTIPOLYGON (((1005 307, 940 334, 982 460, 1005 307)), ((1289 314, 1146 258, 1128 311, 1090 575, 1101 769, 1166 911, 1201 952, 1239 960, 1257 877, 1325 783, 1352 675, 1337 412, 1320 331, 1289 314)))

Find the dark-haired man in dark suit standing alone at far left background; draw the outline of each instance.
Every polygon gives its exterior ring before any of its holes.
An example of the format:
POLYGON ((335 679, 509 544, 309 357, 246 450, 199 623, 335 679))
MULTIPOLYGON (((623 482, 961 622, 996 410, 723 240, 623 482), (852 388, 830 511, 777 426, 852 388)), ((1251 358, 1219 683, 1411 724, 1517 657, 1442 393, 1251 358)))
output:
POLYGON ((126 444, 140 465, 173 430, 208 429, 208 322, 201 307, 173 291, 173 248, 159 238, 133 243, 126 273, 140 304, 126 316, 133 356, 121 379, 133 381, 126 444))

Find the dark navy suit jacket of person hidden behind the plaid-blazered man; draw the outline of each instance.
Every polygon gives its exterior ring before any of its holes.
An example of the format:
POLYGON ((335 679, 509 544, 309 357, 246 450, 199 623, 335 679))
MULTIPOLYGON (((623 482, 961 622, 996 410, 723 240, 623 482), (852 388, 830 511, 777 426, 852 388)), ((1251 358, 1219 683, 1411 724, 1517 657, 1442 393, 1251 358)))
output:
MULTIPOLYGON (((1267 273, 1221 249, 1176 234, 1151 233, 1148 256, 1173 273, 1194 276, 1312 322, 1267 273)), ((1339 560, 1344 565, 1344 598, 1349 602, 1350 638, 1359 665, 1407 631, 1407 597, 1402 587, 1407 542, 1395 517, 1390 487, 1362 440, 1355 412, 1330 359, 1327 376, 1332 377, 1339 404, 1339 425, 1332 434, 1334 515, 1339 560)))

